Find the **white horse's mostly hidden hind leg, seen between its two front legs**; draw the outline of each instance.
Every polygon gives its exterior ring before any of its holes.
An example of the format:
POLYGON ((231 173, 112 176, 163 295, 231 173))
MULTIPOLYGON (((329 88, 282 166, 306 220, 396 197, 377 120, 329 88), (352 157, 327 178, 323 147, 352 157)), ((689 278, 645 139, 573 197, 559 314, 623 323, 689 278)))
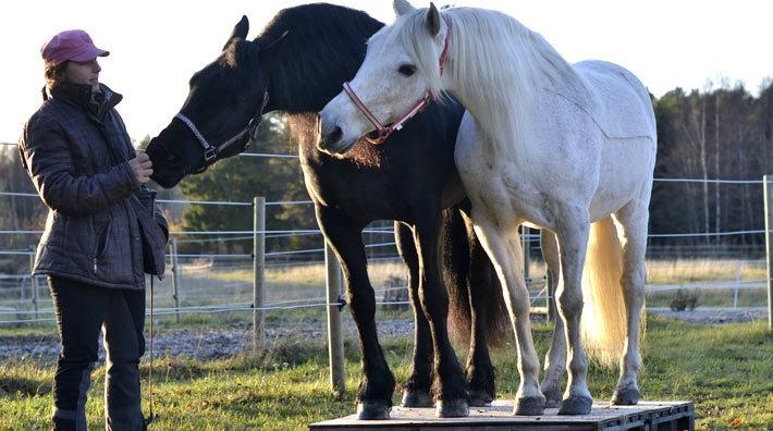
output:
MULTIPOLYGON (((557 285, 563 284, 561 281, 561 261, 559 257, 559 243, 555 239, 555 234, 547 229, 540 231, 540 245, 542 247, 542 256, 548 264, 548 269, 553 275, 553 282, 557 285)), ((557 291, 557 287, 553 290, 557 291)), ((544 355, 544 375, 540 389, 545 396, 547 407, 559 407, 561 404, 561 379, 564 377, 566 368, 566 338, 564 331, 564 320, 555 319, 553 329, 553 342, 544 355)))

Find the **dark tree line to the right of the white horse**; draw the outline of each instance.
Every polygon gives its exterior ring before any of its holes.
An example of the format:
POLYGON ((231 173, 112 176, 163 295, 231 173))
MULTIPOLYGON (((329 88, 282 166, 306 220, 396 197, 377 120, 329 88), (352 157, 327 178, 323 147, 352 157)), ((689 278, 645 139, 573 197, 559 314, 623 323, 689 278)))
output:
POLYGON ((716 234, 764 229, 761 181, 773 173, 773 83, 763 86, 758 97, 740 85, 690 93, 677 88, 655 100, 654 108, 659 140, 655 178, 701 181, 655 183, 650 233, 707 235, 651 243, 759 248, 764 244, 763 234, 716 234))

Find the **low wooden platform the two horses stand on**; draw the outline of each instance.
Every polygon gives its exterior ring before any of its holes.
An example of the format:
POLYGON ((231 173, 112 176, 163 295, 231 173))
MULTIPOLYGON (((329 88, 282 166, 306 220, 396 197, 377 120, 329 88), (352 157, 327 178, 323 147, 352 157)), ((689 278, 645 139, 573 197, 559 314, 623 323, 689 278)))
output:
POLYGON ((393 407, 389 420, 357 420, 357 415, 311 423, 309 430, 643 430, 682 431, 695 428, 692 402, 641 402, 636 406, 594 403, 589 415, 513 416, 513 401, 495 401, 490 407, 473 407, 466 418, 437 418, 434 408, 393 407))

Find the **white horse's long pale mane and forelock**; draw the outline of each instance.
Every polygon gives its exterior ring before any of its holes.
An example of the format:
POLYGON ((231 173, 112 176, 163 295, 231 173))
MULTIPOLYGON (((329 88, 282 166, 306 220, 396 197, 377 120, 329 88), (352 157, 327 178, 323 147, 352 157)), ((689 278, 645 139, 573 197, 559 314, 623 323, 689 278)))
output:
MULTIPOLYGON (((420 9, 401 16, 398 22, 404 20, 404 24, 395 25, 400 29, 391 36, 401 39, 427 77, 429 90, 438 96, 443 89, 438 44, 416 37, 429 34, 426 14, 427 10, 420 9)), ((441 17, 451 26, 445 73, 453 75, 456 87, 465 94, 486 95, 478 98, 477 106, 467 108, 484 125, 487 134, 500 135, 504 140, 518 138, 539 88, 562 91, 562 87, 570 86, 574 91, 587 93, 585 81, 572 65, 540 34, 512 16, 491 10, 453 8, 442 10, 441 17)))

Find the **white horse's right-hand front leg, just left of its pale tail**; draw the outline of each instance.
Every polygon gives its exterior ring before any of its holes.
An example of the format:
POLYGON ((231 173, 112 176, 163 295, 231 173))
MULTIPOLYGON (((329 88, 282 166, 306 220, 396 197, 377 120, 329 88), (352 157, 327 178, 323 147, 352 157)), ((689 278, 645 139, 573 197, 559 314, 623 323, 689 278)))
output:
POLYGON ((568 381, 559 415, 587 415, 593 398, 588 391, 586 377, 588 359, 580 341, 580 318, 582 316, 582 266, 588 248, 590 222, 587 210, 577 207, 560 206, 556 220, 561 221, 556 230, 561 249, 561 276, 555 293, 561 318, 566 325, 568 356, 566 371, 568 381))

